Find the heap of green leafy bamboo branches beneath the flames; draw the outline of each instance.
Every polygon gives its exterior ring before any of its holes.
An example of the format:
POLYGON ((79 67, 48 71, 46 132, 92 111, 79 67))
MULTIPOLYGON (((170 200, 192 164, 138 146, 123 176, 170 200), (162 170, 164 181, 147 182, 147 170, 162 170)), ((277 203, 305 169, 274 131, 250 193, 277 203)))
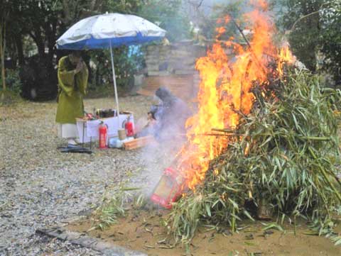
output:
MULTIPOLYGON (((167 227, 181 243, 190 244, 197 228, 207 224, 234 232, 262 208, 275 221, 295 224, 303 217, 320 234, 336 225, 340 91, 325 89, 310 72, 291 70, 268 84, 255 82, 253 93, 253 110, 241 117, 205 182, 173 205, 167 227)), ((341 236, 334 237, 341 243, 341 236)))

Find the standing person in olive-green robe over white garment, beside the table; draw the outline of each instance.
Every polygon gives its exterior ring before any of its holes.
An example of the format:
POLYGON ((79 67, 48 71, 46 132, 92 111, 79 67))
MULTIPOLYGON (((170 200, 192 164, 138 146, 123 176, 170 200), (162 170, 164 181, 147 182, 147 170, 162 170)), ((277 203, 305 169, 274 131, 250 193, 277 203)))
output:
POLYGON ((76 120, 84 115, 83 96, 87 90, 89 72, 79 51, 62 57, 58 63, 58 107, 55 121, 59 135, 67 138, 67 146, 77 145, 76 120))

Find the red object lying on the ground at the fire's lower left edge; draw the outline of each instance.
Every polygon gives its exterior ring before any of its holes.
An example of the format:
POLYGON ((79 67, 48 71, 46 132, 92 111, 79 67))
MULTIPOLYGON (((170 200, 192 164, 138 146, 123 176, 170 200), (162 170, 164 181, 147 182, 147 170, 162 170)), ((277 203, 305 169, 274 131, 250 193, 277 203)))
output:
POLYGON ((166 168, 151 195, 151 201, 164 208, 172 208, 172 203, 183 193, 183 183, 184 179, 178 171, 171 167, 166 168))

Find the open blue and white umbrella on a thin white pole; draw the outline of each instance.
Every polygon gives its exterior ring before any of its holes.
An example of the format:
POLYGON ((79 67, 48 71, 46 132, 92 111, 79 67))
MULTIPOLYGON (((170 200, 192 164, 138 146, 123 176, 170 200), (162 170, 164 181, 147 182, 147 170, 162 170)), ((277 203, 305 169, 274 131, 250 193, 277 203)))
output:
POLYGON ((82 19, 69 28, 58 40, 57 48, 65 50, 110 49, 112 78, 119 113, 119 99, 112 48, 121 45, 138 45, 159 40, 166 30, 144 18, 121 13, 106 13, 82 19))

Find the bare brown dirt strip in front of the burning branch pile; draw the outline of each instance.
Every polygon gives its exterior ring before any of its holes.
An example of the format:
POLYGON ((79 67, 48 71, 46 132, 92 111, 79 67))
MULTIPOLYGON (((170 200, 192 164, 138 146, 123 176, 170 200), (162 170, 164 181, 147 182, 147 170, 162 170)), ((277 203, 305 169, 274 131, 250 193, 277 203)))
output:
MULTIPOLYGON (((139 250, 151 256, 186 255, 185 247, 171 247, 166 243, 166 228, 162 225, 165 212, 131 212, 126 218, 106 230, 90 230, 90 219, 80 223, 72 223, 68 228, 80 233, 87 233, 108 243, 121 245, 132 250, 139 250), (89 232, 87 230, 90 230, 89 232)), ((261 222, 248 223, 233 235, 229 229, 208 231, 201 228, 190 245, 193 256, 340 256, 341 247, 335 246, 331 240, 317 235, 304 225, 298 225, 296 235, 293 226, 286 225, 284 231, 266 230, 261 222)))

